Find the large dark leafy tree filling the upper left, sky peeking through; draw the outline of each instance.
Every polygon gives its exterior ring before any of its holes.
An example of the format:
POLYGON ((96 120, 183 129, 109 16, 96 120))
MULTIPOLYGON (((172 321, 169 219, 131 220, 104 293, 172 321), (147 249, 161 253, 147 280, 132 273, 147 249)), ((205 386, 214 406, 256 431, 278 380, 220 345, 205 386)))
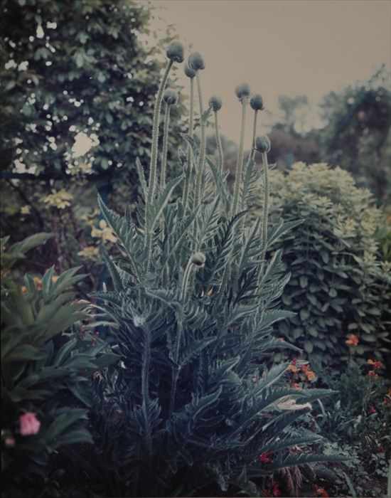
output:
MULTIPOLYGON (((136 197, 135 159, 149 164, 162 67, 156 58, 172 33, 156 46, 141 42, 153 16, 145 2, 6 0, 3 6, 1 228, 16 239, 62 230, 43 264, 69 267, 80 263, 67 260, 70 246, 73 255, 90 247, 89 240, 80 247, 80 238, 90 235, 96 190, 107 198, 114 186, 119 203, 136 197)), ((171 134, 169 157, 179 129, 171 134)))

